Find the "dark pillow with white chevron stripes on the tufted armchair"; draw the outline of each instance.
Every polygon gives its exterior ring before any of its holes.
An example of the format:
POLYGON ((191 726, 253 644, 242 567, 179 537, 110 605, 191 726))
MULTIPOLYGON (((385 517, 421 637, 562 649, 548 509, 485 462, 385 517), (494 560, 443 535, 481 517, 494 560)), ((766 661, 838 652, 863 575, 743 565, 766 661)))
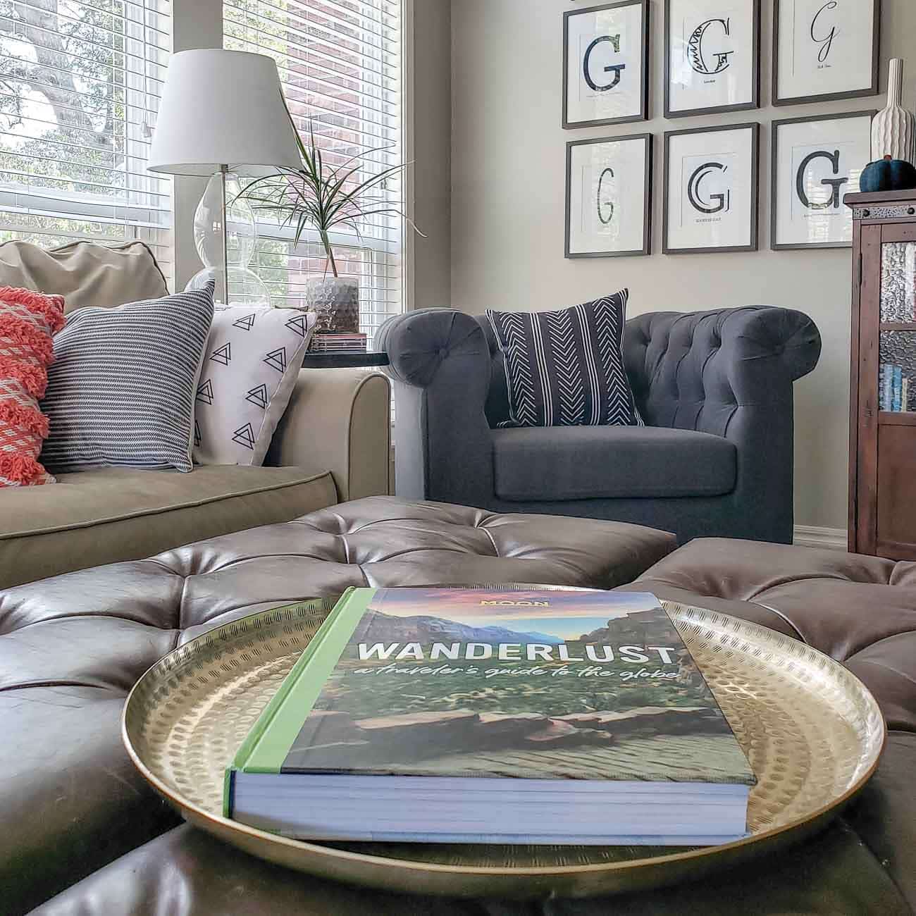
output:
POLYGON ((560 311, 486 311, 506 358, 507 425, 642 424, 624 368, 628 295, 560 311))

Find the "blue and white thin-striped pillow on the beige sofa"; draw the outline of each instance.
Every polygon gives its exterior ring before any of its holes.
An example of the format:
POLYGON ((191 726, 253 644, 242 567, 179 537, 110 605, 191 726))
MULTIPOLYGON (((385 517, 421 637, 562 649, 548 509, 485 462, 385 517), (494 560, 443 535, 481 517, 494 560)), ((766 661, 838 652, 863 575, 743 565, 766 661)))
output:
POLYGON ((41 461, 55 474, 116 465, 191 471, 194 394, 213 322, 205 289, 78 309, 54 337, 41 461))

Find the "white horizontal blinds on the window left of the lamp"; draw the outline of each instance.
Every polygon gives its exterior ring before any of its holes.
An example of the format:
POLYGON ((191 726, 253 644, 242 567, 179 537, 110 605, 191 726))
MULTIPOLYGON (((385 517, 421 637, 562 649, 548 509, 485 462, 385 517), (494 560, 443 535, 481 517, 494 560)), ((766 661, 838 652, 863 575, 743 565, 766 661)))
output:
POLYGON ((146 170, 170 9, 0 0, 0 241, 140 239, 170 279, 170 181, 146 170))

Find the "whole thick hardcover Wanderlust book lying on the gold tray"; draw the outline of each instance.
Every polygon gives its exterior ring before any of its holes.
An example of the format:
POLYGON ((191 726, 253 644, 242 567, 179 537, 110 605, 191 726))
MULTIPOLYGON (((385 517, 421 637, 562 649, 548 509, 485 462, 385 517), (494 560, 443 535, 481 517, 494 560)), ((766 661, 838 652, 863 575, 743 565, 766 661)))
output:
POLYGON ((714 845, 755 784, 651 594, 357 588, 226 771, 302 839, 714 845))

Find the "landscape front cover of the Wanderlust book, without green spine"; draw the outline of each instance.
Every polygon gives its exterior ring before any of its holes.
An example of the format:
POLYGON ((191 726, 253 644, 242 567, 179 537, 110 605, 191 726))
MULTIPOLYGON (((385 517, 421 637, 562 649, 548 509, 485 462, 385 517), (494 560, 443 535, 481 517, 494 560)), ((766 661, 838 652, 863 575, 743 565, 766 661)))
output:
POLYGON ((281 772, 753 784, 651 594, 378 589, 281 772))

